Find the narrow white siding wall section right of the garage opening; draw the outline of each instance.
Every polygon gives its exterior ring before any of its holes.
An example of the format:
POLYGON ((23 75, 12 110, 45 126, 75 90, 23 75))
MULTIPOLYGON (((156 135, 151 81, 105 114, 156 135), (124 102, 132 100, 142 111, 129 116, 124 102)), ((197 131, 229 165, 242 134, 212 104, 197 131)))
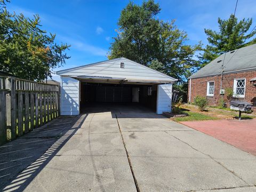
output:
POLYGON ((171 112, 172 108, 172 84, 157 86, 157 106, 156 113, 162 114, 164 111, 171 112))

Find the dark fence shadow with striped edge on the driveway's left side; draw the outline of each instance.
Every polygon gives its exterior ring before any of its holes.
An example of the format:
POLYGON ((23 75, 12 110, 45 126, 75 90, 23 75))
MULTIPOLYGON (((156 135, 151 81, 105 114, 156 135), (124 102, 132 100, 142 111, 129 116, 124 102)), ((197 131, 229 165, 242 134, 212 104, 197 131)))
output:
POLYGON ((58 117, 1 146, 0 191, 23 191, 76 133, 86 117, 58 117))

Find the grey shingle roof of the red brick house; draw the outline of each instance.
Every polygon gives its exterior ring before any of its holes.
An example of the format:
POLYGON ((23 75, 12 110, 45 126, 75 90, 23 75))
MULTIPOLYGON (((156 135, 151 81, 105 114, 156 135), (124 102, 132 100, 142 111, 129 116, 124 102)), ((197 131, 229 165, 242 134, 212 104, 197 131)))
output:
POLYGON ((198 70, 189 78, 218 75, 221 73, 221 66, 223 62, 224 62, 223 74, 233 73, 237 71, 244 71, 244 70, 253 70, 253 69, 256 70, 256 44, 227 52, 225 60, 224 60, 224 57, 225 57, 225 53, 223 53, 218 58, 211 61, 202 69, 198 70))

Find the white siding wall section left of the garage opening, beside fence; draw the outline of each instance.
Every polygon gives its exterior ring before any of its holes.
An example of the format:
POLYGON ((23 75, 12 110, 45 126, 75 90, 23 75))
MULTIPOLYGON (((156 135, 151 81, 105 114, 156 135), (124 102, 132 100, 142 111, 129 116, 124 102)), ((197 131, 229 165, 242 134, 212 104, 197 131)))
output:
POLYGON ((61 76, 60 115, 79 115, 79 81, 61 76))

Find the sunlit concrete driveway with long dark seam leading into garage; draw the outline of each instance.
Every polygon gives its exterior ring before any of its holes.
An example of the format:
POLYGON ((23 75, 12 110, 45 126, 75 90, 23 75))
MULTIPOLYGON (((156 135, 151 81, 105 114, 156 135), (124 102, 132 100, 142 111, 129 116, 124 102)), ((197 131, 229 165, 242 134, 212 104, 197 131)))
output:
POLYGON ((102 111, 76 117, 4 191, 256 191, 255 156, 143 108, 102 111))

